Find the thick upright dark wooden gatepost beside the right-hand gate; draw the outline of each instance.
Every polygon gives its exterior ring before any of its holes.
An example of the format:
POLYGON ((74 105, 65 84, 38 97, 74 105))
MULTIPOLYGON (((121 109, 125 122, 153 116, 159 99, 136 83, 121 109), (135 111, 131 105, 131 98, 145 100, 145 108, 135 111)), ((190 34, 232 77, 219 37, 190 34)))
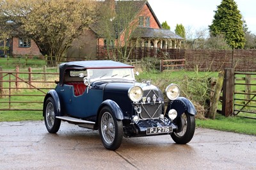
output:
POLYGON ((225 68, 224 70, 222 114, 227 117, 234 111, 234 69, 225 68))

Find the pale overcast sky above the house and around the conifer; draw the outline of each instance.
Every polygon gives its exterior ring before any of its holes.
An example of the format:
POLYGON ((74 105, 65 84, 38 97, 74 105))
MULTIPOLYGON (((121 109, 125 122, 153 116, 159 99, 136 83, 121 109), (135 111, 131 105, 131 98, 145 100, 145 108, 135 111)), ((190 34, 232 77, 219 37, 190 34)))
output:
MULTIPOLYGON (((249 31, 256 34, 256 0, 235 0, 246 21, 249 31)), ((185 29, 200 30, 212 24, 214 10, 221 0, 148 0, 157 19, 162 24, 166 20, 175 30, 176 24, 185 29)))

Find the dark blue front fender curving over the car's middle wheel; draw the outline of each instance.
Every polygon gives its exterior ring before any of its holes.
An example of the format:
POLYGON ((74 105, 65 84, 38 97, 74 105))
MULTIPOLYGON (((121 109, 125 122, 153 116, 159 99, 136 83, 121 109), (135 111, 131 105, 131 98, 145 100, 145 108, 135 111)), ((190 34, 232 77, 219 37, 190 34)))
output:
MULTIPOLYGON (((121 108, 119 107, 118 104, 116 104, 115 101, 113 100, 105 100, 104 102, 102 102, 102 104, 100 104, 100 107, 98 109, 98 113, 100 112, 100 110, 102 109, 102 107, 104 106, 108 106, 110 107, 110 109, 113 111, 113 113, 115 114, 116 120, 124 120, 124 114, 121 110, 121 108)), ((99 115, 99 114, 98 114, 99 115)))

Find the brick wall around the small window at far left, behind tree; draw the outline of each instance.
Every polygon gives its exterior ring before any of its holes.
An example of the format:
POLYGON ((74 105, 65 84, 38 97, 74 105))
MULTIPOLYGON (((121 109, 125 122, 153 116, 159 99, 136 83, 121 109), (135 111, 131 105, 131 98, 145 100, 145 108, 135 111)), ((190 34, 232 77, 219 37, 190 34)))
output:
POLYGON ((19 47, 19 38, 12 38, 12 56, 42 56, 36 43, 31 40, 31 47, 19 47))

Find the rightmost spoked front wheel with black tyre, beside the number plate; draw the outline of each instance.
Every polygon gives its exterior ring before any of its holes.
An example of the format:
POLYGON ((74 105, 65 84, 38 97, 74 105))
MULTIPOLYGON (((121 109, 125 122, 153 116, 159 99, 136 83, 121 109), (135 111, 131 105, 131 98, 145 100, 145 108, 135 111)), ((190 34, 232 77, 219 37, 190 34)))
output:
POLYGON ((179 130, 171 134, 173 141, 177 144, 189 143, 195 133, 195 116, 184 112, 176 123, 179 130))

